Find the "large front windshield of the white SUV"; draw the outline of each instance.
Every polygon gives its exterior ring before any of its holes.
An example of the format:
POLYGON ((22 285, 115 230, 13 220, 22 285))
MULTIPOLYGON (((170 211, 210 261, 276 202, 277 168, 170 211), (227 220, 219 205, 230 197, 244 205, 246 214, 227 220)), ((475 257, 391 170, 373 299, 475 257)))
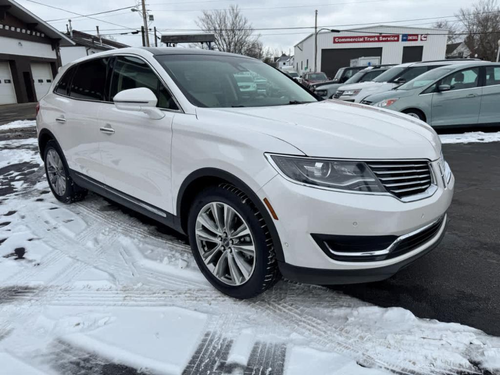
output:
POLYGON ((210 54, 164 54, 155 57, 186 98, 196 106, 257 107, 317 101, 290 77, 251 58, 210 54), (238 80, 247 76, 263 78, 265 89, 238 85, 238 80))

